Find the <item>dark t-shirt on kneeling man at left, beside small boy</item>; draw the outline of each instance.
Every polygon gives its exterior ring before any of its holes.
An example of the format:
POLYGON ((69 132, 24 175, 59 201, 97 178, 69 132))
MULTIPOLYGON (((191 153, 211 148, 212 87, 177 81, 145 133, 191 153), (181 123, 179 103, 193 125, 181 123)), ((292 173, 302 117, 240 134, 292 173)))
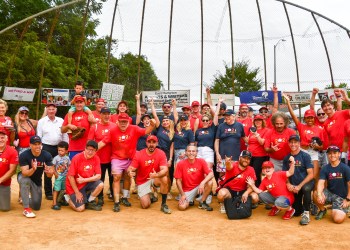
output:
POLYGON ((44 172, 44 163, 46 166, 52 166, 52 156, 49 152, 42 150, 39 156, 34 156, 32 154, 32 150, 26 150, 22 154, 19 155, 19 165, 29 166, 29 169, 32 168, 32 160, 36 159, 38 167, 35 172, 29 176, 29 178, 37 185, 42 186, 42 176, 44 172))

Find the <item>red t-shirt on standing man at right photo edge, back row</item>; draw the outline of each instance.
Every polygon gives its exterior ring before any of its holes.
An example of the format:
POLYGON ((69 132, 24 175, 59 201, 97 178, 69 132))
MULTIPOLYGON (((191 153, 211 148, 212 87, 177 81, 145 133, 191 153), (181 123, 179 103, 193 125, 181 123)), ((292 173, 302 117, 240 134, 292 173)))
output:
POLYGON ((344 124, 350 118, 349 110, 335 111, 332 117, 324 122, 328 134, 329 145, 342 148, 344 140, 344 124))

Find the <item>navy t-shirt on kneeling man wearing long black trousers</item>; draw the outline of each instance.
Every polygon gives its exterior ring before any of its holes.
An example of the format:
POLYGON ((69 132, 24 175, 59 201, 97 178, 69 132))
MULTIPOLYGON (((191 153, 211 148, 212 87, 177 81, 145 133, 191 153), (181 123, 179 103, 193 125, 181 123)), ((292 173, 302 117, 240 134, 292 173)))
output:
POLYGON ((311 157, 308 153, 300 151, 297 155, 288 154, 283 159, 282 171, 289 170, 289 157, 293 156, 295 160, 295 170, 294 174, 289 177, 289 182, 297 186, 299 185, 307 176, 307 170, 309 168, 314 168, 312 164, 311 157))

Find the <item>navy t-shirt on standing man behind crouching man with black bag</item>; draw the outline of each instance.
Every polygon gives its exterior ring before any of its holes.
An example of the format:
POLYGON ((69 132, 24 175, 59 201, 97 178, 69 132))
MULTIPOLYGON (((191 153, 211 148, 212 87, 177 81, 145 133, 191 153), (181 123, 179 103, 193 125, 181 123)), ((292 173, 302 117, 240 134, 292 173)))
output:
POLYGON ((219 153, 222 159, 225 156, 232 157, 232 160, 238 161, 241 153, 241 138, 245 137, 242 123, 235 122, 228 125, 226 122, 219 125, 216 131, 216 139, 220 139, 219 153))

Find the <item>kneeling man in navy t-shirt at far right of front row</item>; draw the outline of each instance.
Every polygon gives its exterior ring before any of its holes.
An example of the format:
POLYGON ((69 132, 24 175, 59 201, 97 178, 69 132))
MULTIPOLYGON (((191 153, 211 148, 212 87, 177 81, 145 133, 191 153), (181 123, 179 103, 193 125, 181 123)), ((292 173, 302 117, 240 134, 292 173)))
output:
POLYGON ((326 152, 329 164, 321 169, 314 197, 320 209, 316 220, 320 220, 326 215, 325 204, 330 203, 332 204, 332 219, 335 223, 340 224, 349 212, 350 168, 340 161, 341 153, 337 146, 329 146, 326 152))

